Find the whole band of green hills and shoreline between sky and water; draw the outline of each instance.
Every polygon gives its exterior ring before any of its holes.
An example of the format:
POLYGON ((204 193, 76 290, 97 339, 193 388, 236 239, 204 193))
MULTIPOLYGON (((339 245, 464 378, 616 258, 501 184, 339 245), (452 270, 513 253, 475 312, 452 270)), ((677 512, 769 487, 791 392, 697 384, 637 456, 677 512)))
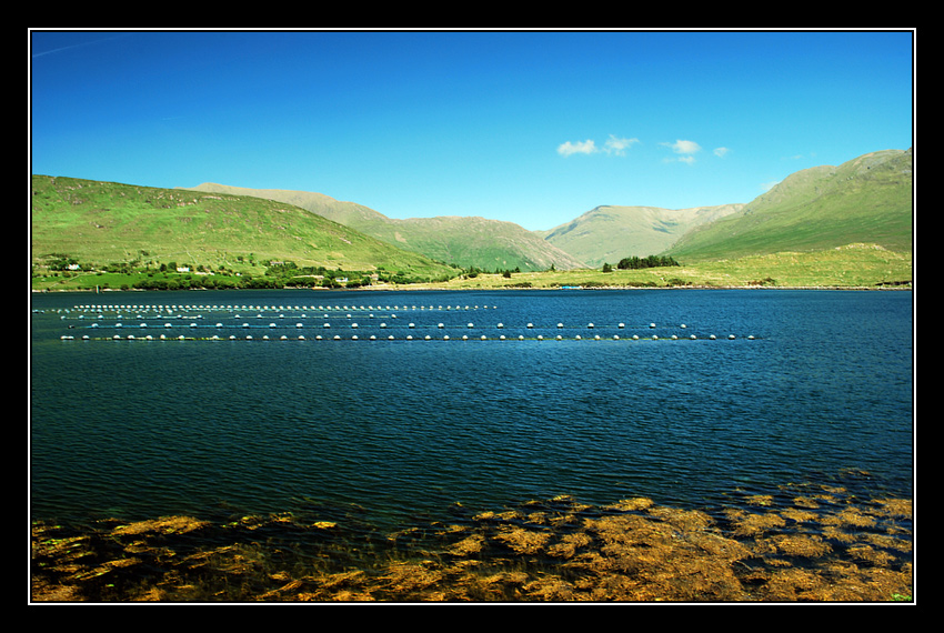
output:
POLYGON ((747 203, 600 205, 546 231, 34 174, 31 288, 912 288, 913 228, 911 149, 802 170, 747 203))

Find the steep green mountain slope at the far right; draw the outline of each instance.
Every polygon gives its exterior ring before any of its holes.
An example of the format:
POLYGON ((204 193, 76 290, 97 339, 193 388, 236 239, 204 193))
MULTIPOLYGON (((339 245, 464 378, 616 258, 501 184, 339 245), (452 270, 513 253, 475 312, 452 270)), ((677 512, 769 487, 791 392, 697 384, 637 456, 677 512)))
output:
POLYGON ((695 228, 667 253, 694 262, 851 243, 911 252, 912 170, 912 150, 886 150, 799 171, 740 212, 695 228))

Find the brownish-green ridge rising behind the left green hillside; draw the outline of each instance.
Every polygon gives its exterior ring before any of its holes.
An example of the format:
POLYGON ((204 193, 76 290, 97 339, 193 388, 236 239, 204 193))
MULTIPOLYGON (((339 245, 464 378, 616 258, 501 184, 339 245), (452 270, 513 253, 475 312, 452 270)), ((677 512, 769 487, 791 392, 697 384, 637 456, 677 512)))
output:
POLYGON ((519 224, 479 217, 388 218, 362 204, 342 202, 322 193, 279 189, 245 189, 212 182, 191 191, 224 192, 288 202, 329 220, 433 260, 482 270, 523 271, 586 268, 541 235, 519 224))

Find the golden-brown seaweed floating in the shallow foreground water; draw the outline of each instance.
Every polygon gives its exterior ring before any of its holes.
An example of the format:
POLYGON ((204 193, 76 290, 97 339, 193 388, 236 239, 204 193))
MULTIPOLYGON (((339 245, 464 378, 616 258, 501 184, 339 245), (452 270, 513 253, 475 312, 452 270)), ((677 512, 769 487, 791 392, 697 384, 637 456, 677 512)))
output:
POLYGON ((32 523, 34 602, 891 602, 913 595, 912 501, 838 485, 723 508, 570 496, 394 533, 320 508, 210 521, 32 523))

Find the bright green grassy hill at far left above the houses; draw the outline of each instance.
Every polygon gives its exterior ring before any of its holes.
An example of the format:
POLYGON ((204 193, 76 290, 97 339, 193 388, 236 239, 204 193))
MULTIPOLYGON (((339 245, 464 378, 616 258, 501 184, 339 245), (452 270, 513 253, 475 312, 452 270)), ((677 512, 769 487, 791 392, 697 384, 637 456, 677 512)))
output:
POLYGON ((31 228, 34 262, 64 253, 97 264, 147 260, 239 270, 250 261, 291 260, 330 269, 448 272, 292 204, 231 194, 33 175, 31 228))

